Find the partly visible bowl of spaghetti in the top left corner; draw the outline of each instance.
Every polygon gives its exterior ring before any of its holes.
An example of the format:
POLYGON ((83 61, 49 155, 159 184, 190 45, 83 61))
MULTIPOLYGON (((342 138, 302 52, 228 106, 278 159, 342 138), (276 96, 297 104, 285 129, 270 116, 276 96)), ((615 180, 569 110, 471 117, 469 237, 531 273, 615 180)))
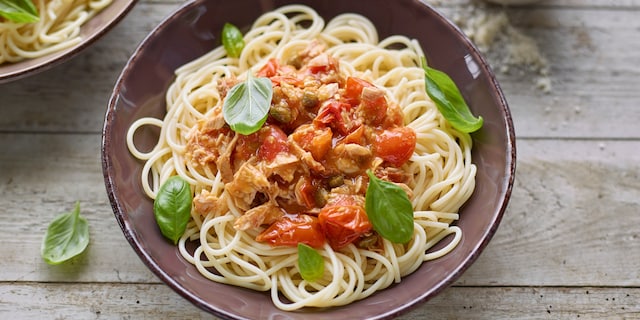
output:
POLYGON ((74 57, 113 28, 135 3, 35 0, 39 22, 0 21, 0 83, 50 69, 74 57))

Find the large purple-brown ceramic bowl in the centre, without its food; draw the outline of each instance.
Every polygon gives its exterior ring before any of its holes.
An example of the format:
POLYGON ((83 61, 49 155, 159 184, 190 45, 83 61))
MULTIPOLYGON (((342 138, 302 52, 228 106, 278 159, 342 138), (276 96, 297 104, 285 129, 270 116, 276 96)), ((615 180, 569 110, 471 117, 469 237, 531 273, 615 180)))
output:
MULTIPOLYGON (((122 71, 106 113, 102 161, 109 199, 125 237, 149 269, 178 294, 218 317, 392 318, 442 291, 476 260, 498 228, 515 174, 515 136, 503 93, 474 45, 433 8, 419 0, 296 1, 313 7, 326 20, 343 12, 360 13, 376 25, 381 39, 391 34, 418 39, 430 64, 454 79, 473 113, 485 121, 472 135, 477 187, 460 211, 457 225, 463 237, 459 245, 446 256, 424 263, 401 283, 364 300, 343 307, 285 312, 272 304, 269 293, 205 279, 160 234, 152 201, 140 186, 142 163, 126 147, 131 123, 143 116, 164 115, 165 90, 174 70, 217 46, 224 22, 249 26, 261 13, 289 3, 292 1, 189 1, 151 32, 122 71)), ((142 132, 136 142, 151 147, 156 137, 157 132, 142 132)))

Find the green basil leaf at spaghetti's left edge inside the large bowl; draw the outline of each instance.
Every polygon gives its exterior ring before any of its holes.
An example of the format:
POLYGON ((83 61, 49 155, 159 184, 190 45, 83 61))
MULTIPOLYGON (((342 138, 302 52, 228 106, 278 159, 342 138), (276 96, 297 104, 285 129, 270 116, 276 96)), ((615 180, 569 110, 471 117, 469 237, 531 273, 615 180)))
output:
POLYGON ((170 177, 158 190, 153 213, 162 235, 174 244, 178 243, 187 229, 191 202, 191 186, 180 176, 170 177))

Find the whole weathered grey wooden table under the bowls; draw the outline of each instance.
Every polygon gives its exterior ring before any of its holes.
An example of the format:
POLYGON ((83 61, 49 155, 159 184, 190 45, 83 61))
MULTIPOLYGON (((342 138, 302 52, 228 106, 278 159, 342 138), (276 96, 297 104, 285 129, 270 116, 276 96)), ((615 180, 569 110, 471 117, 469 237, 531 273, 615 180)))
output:
MULTIPOLYGON (((492 62, 517 133, 509 208, 476 263, 401 318, 640 319, 640 0, 431 3, 456 19, 470 8, 504 11, 535 40, 548 75, 492 62)), ((211 318, 126 242, 100 162, 114 81, 179 4, 141 0, 74 60, 0 85, 0 318, 211 318), (91 244, 78 259, 49 266, 40 258, 45 229, 76 200, 91 244)))

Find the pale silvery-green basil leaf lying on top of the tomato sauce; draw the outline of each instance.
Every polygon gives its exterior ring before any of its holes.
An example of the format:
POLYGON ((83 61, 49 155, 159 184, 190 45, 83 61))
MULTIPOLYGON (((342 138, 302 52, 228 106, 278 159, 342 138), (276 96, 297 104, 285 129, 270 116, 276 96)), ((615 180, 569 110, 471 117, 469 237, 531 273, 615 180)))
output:
POLYGON ((233 86, 222 105, 224 120, 237 133, 252 134, 260 129, 269 115, 273 86, 268 78, 254 78, 233 86))

